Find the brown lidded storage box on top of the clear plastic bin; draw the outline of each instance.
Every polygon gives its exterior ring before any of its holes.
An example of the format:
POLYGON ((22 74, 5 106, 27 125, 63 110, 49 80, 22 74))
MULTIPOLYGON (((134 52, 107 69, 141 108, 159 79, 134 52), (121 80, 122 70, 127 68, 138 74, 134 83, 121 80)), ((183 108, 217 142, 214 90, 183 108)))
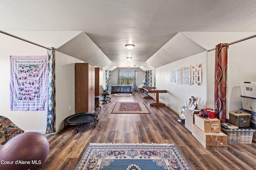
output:
POLYGON ((250 117, 252 114, 244 111, 230 111, 229 112, 229 123, 237 127, 249 127, 250 117))

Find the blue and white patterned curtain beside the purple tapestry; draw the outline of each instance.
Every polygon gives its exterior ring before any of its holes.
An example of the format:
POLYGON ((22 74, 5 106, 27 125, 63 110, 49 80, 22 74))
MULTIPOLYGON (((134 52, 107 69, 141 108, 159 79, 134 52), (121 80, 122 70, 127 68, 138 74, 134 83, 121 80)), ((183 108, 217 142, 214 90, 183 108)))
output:
POLYGON ((47 125, 46 134, 56 132, 55 129, 55 49, 52 47, 51 50, 47 50, 48 55, 48 109, 47 109, 47 125))

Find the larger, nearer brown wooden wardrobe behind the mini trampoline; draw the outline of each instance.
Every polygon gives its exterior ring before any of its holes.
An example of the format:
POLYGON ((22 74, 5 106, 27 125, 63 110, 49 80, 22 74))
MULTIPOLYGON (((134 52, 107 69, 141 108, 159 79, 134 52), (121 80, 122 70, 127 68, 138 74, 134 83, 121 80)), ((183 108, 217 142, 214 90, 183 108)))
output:
POLYGON ((93 112, 95 108, 95 68, 76 63, 76 114, 93 112))

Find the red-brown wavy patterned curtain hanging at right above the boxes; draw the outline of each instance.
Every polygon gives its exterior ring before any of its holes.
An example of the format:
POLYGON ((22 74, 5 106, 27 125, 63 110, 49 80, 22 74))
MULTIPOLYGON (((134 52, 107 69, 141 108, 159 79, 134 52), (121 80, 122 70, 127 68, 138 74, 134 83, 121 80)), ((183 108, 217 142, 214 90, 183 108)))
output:
POLYGON ((226 122, 226 78, 228 65, 228 46, 218 44, 215 49, 215 82, 214 82, 214 111, 220 122, 226 122))

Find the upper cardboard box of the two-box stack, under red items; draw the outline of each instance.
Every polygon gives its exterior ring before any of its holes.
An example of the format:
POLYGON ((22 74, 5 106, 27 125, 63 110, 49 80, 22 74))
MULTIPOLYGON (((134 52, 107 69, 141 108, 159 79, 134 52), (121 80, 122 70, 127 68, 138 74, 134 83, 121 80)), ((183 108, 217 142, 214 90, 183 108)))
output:
POLYGON ((209 133, 220 133, 220 119, 210 119, 208 117, 200 117, 198 114, 194 115, 195 125, 199 127, 203 132, 209 133))

